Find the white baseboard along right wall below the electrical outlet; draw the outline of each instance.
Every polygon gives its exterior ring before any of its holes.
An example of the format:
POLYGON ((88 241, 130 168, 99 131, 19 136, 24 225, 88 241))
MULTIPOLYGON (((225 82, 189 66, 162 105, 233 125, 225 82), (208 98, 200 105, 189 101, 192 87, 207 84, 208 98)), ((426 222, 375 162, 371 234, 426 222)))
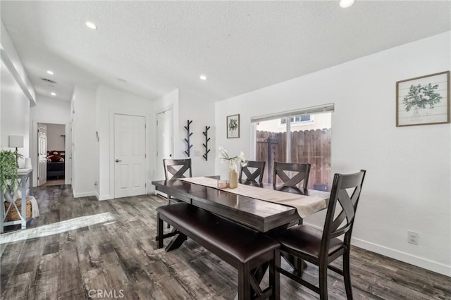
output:
POLYGON ((364 241, 363 239, 357 239, 354 237, 351 240, 351 244, 353 246, 358 246, 359 248, 369 250, 371 252, 376 252, 377 254, 381 254, 383 256, 394 258, 397 261, 416 265, 417 267, 451 277, 451 265, 445 265, 443 263, 437 263, 436 261, 430 261, 426 258, 414 256, 406 252, 390 249, 388 247, 373 244, 371 242, 364 241))

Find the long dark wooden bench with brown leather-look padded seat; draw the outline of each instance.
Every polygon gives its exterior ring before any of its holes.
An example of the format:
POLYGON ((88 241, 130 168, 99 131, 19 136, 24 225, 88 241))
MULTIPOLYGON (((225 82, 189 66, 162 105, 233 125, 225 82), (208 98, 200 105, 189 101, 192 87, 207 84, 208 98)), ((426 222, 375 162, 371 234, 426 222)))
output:
MULTIPOLYGON (((164 221, 238 270, 238 299, 279 299, 274 253, 280 244, 275 239, 185 202, 156 211, 159 237, 163 237, 164 221), (266 263, 269 286, 261 290, 253 270, 266 263)), ((159 238, 158 248, 162 247, 163 238, 159 238)))

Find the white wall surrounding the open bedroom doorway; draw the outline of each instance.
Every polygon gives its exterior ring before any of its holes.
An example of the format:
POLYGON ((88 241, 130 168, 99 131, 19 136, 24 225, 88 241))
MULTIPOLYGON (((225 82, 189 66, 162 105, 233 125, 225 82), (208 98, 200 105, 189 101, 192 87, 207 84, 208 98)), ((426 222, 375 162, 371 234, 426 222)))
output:
MULTIPOLYGON (((64 182, 66 185, 71 183, 71 163, 72 157, 70 155, 70 102, 61 101, 59 99, 52 99, 47 96, 37 95, 36 106, 30 108, 30 144, 31 153, 37 154, 37 123, 52 123, 52 124, 64 124, 66 125, 66 163, 65 163, 65 176, 64 182)), ((47 146, 47 150, 50 149, 47 146)), ((36 169, 37 157, 32 159, 32 166, 36 169)), ((33 185, 37 185, 37 172, 33 172, 33 185)))

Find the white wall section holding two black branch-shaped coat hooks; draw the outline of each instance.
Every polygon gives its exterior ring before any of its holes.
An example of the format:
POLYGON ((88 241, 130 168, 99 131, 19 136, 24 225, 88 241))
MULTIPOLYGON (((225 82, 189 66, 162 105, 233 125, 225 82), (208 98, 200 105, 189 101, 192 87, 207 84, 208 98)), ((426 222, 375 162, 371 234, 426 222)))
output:
MULTIPOLYGON (((192 120, 190 125, 190 132, 193 133, 190 137, 190 143, 192 144, 190 150, 192 175, 216 175, 214 171, 216 158, 214 149, 216 142, 214 101, 204 99, 203 96, 192 94, 186 90, 180 90, 179 110, 179 147, 175 148, 175 158, 187 158, 184 152, 187 149, 187 143, 184 140, 187 137, 187 131, 184 126, 187 125, 187 120, 192 120), (202 146, 205 142, 204 135, 202 134, 205 131, 205 126, 210 126, 208 135, 211 137, 208 142, 208 147, 211 149, 208 154, 208 161, 205 161, 204 157, 202 157, 205 153, 204 146, 202 146)), ((224 119, 224 123, 226 123, 226 119, 224 119)))

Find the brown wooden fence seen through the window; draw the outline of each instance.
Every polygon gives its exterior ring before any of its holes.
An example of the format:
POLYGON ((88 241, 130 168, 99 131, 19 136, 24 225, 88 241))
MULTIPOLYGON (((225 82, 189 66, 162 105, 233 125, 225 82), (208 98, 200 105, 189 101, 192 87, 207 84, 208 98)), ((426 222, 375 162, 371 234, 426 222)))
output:
MULTIPOLYGON (((272 182, 274 161, 286 162, 286 132, 257 130, 257 161, 266 161, 264 182, 272 182)), ((310 163, 309 189, 330 191, 330 129, 291 132, 291 162, 310 163)))

